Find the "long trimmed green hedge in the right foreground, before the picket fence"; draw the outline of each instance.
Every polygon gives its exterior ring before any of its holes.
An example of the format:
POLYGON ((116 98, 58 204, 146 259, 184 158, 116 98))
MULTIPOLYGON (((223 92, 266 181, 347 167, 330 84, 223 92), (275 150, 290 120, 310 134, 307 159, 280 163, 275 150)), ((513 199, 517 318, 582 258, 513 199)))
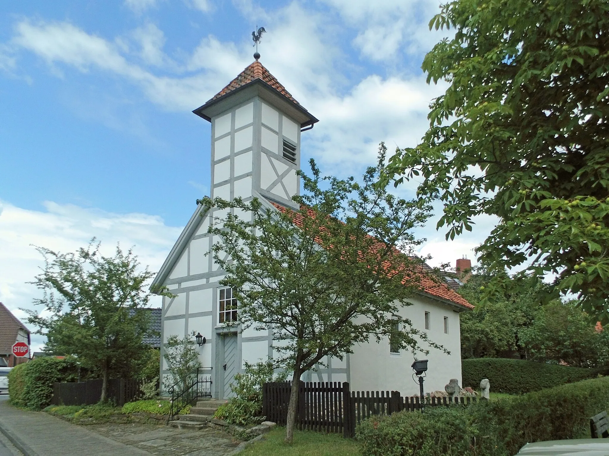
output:
POLYGON ((527 442, 590 437, 590 416, 609 408, 609 378, 470 406, 428 407, 363 421, 362 454, 510 456, 527 442))

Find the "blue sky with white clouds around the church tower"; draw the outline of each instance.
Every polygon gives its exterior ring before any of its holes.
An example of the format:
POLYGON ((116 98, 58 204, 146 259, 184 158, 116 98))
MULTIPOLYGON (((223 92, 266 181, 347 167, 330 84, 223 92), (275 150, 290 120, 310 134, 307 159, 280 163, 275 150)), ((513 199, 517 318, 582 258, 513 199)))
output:
MULTIPOLYGON (((423 56, 435 0, 104 0, 0 4, 0 302, 30 307, 30 244, 74 250, 92 236, 135 246, 157 270, 209 193, 209 124, 192 114, 253 60, 320 122, 303 163, 340 177, 428 126, 423 56)), ((404 194, 409 188, 400 190, 404 194)), ((470 255, 490 225, 453 243, 433 229, 435 263, 470 255)), ((15 313, 23 317, 21 311, 15 313)))

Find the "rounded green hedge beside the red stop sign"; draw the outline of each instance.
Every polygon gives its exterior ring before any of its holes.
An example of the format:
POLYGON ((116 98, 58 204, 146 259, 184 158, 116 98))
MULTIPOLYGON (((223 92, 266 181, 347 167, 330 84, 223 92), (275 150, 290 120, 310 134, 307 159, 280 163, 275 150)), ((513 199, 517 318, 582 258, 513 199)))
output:
POLYGON ((9 396, 17 407, 40 410, 51 403, 53 384, 76 381, 73 359, 38 358, 19 364, 9 372, 9 396))

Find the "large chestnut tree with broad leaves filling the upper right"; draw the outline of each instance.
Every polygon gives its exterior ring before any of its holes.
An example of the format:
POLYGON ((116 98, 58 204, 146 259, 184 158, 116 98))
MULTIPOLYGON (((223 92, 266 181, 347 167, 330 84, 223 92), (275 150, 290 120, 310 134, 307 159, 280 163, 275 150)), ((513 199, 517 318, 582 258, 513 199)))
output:
POLYGON ((550 276, 547 299, 579 294, 608 322, 609 2, 458 0, 429 25, 455 29, 422 66, 450 86, 385 179, 420 179, 421 198, 440 198, 447 238, 498 216, 482 264, 550 276))

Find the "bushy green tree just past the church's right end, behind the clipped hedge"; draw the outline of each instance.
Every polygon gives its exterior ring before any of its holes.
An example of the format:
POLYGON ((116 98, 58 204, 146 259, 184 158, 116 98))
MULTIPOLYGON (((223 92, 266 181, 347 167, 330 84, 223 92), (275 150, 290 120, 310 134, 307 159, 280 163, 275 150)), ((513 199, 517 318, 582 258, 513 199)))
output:
MULTIPOLYGON (((494 300, 482 299, 494 277, 484 270, 476 271, 458 292, 474 309, 459 317, 462 358, 493 358, 505 351, 518 351, 526 358, 521 340, 523 330, 533 324, 541 308, 541 283, 498 295, 494 300)), ((509 278, 507 278, 509 280, 509 278)))

